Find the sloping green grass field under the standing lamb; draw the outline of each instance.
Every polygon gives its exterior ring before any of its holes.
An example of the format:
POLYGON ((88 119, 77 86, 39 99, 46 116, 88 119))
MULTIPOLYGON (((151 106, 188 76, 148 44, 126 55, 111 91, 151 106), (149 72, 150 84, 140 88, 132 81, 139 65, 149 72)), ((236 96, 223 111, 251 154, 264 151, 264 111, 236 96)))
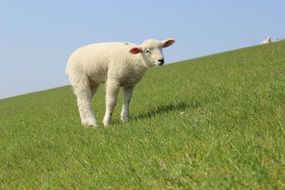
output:
POLYGON ((70 87, 0 100, 0 189, 285 188, 285 42, 152 69, 121 105, 88 129, 70 87))

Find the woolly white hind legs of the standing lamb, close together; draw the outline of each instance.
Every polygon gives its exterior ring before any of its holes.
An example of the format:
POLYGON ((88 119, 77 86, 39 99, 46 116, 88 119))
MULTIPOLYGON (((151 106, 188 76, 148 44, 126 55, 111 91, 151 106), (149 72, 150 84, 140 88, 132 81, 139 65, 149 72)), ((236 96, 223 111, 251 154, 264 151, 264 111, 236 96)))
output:
POLYGON ((90 85, 88 81, 82 81, 74 87, 77 96, 77 105, 81 118, 81 123, 87 127, 97 127, 96 119, 92 113, 91 100, 98 86, 90 85))

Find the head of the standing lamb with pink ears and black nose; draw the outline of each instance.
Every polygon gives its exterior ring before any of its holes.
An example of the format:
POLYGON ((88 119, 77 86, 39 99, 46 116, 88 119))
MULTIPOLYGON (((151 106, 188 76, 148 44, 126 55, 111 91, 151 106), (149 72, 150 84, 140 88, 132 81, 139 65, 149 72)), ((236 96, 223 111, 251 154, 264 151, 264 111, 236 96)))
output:
POLYGON ((159 40, 146 40, 141 45, 131 48, 129 51, 132 54, 140 53, 144 59, 145 64, 148 66, 156 66, 164 64, 164 56, 162 48, 171 46, 175 42, 174 39, 159 40))

